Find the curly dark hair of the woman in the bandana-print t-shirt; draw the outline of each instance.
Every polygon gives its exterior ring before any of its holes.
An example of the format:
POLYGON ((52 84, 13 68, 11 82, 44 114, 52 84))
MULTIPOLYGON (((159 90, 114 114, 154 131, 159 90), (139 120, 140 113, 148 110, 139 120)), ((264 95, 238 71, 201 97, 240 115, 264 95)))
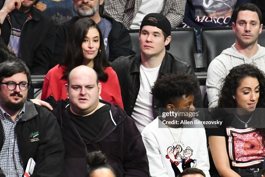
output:
MULTIPOLYGON (((257 78, 259 81, 259 100, 256 105, 257 108, 265 108, 265 76, 264 72, 260 71, 252 64, 241 64, 233 67, 229 74, 223 79, 222 87, 219 90, 219 108, 236 108, 236 100, 233 96, 236 95, 236 89, 241 84, 242 79, 245 77, 257 78)), ((257 119, 260 125, 263 125, 261 118, 257 119)), ((265 145, 265 128, 256 128, 263 137, 263 144, 265 145)))

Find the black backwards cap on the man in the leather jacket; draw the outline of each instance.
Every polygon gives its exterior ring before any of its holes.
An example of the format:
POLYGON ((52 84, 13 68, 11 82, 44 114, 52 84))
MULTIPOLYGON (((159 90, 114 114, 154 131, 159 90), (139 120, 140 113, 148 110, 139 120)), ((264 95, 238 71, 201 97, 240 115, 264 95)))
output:
MULTIPOLYGON (((150 13, 145 15, 145 17, 143 18, 143 21, 141 23, 140 26, 140 31, 142 30, 143 26, 145 25, 149 25, 149 26, 154 26, 157 27, 159 29, 161 29, 162 31, 164 31, 167 35, 171 35, 171 24, 169 22, 169 20, 162 14, 158 14, 158 13, 150 13), (157 19, 157 23, 156 22, 152 22, 152 21, 147 21, 146 19, 148 17, 154 17, 157 19)), ((170 49, 170 43, 167 44, 166 46, 166 50, 170 49)))

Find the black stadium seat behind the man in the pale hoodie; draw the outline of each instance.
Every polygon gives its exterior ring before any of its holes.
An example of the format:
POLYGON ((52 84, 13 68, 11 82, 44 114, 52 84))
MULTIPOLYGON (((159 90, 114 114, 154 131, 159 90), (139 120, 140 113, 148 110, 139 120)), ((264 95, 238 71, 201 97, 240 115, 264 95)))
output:
MULTIPOLYGON (((224 49, 230 48, 236 41, 232 27, 201 28, 201 49, 206 54, 207 66, 224 49)), ((258 44, 265 47, 265 29, 259 35, 258 44)))

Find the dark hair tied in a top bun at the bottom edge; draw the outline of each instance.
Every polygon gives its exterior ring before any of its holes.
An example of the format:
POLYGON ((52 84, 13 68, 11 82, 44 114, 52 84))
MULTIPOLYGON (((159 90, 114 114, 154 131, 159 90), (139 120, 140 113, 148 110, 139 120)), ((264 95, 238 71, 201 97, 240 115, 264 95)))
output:
POLYGON ((116 176, 113 168, 109 165, 106 160, 107 156, 101 151, 94 151, 87 154, 87 164, 89 165, 88 177, 93 173, 93 171, 98 169, 109 169, 116 176))

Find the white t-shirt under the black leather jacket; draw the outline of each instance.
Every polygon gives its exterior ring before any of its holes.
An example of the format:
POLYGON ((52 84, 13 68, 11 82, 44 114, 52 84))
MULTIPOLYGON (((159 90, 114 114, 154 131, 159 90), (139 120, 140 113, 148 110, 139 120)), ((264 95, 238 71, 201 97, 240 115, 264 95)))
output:
POLYGON ((160 66, 161 64, 156 68, 145 68, 142 64, 140 65, 140 89, 131 115, 140 132, 154 120, 153 96, 150 92, 157 79, 160 66))

